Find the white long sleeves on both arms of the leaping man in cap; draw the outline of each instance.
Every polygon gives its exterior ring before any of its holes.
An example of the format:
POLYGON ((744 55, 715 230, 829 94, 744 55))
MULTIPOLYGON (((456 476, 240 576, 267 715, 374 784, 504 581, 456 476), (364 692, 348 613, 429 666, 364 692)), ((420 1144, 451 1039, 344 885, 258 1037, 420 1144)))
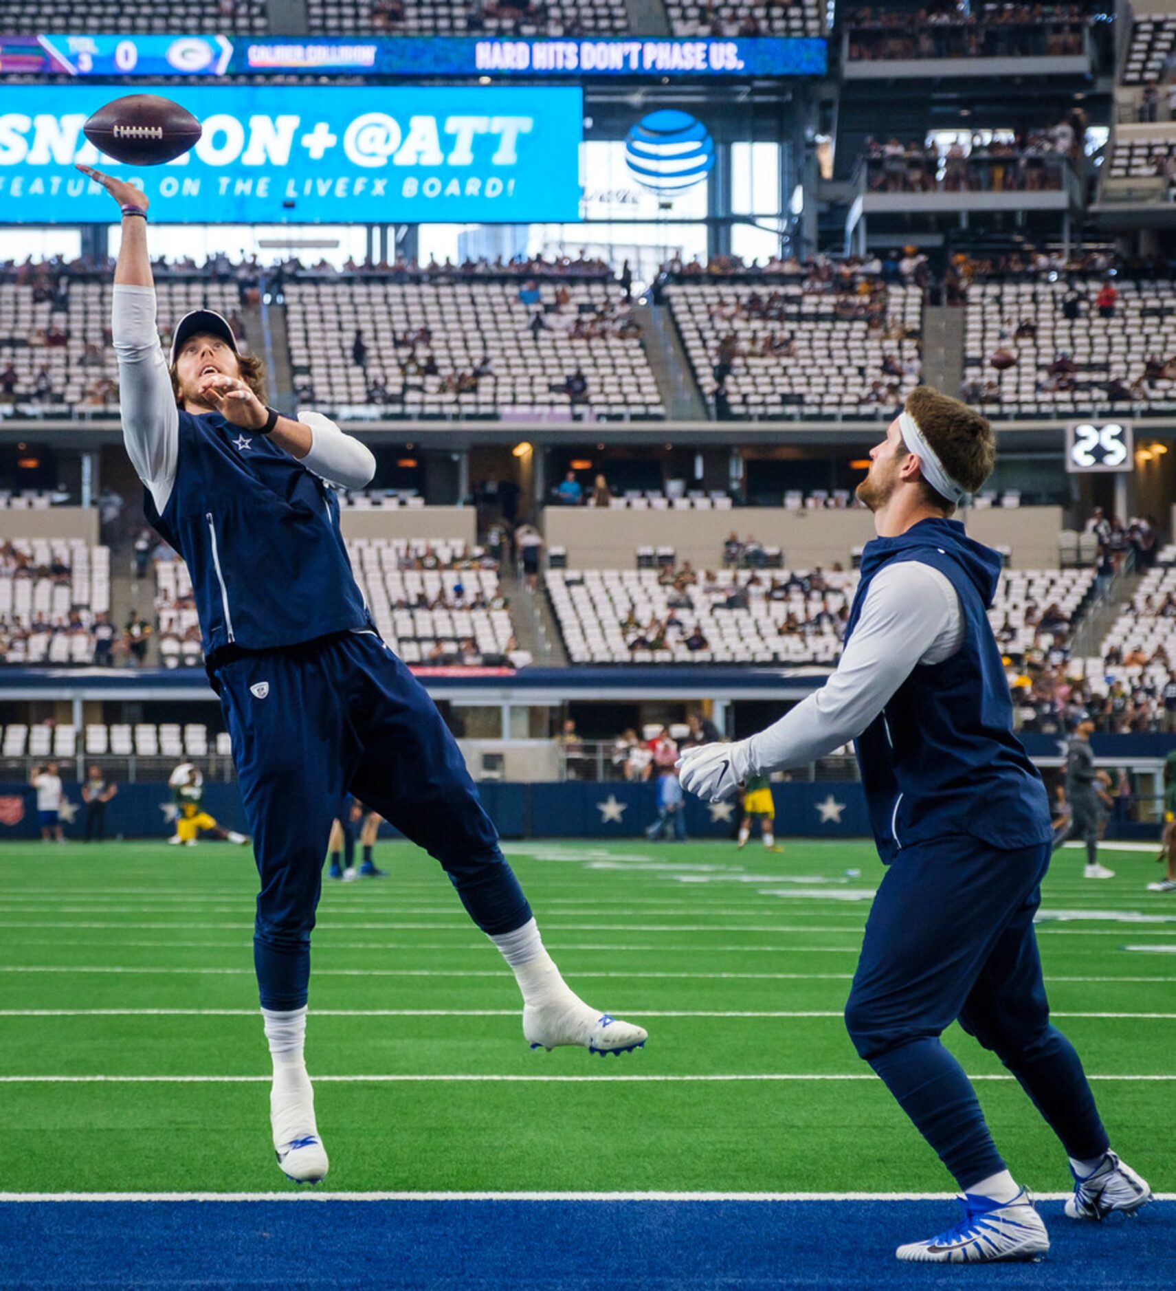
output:
MULTIPOLYGON (((119 359, 127 454, 150 489, 156 510, 163 511, 176 483, 179 412, 155 325, 155 289, 116 284, 111 332, 119 359)), ((307 470, 341 488, 363 488, 370 483, 376 458, 365 444, 345 435, 323 413, 299 409, 298 421, 311 432, 310 452, 302 458, 307 470)))

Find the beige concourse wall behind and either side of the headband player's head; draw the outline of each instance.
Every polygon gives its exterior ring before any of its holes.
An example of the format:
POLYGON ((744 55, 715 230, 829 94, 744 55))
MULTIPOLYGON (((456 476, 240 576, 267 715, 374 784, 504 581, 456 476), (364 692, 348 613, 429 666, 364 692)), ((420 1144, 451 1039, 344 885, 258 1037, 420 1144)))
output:
MULTIPOLYGON (((1012 565, 1020 569, 1057 565, 1057 536, 1062 528, 1060 506, 989 507, 964 516, 968 533, 990 546, 1012 547, 1012 565)), ((631 511, 607 507, 549 506, 543 513, 549 546, 568 549, 576 569, 629 569, 639 546, 671 546, 678 560, 696 568, 714 567, 723 542, 733 531, 740 538, 754 534, 765 546, 784 550, 785 565, 849 567, 851 550, 874 537, 870 513, 853 507, 833 511, 786 511, 782 507, 745 506, 731 511, 631 511)))

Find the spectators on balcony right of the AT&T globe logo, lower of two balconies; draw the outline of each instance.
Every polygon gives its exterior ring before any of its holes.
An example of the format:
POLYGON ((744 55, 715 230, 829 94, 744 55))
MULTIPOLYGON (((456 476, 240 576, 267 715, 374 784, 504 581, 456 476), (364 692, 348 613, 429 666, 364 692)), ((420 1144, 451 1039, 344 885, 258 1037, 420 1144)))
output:
POLYGON ((1083 156, 1086 117, 1074 112, 1043 130, 989 138, 973 133, 968 146, 946 150, 933 141, 902 143, 896 136, 867 138, 862 151, 870 192, 1040 192, 1060 188, 1062 163, 1083 156))

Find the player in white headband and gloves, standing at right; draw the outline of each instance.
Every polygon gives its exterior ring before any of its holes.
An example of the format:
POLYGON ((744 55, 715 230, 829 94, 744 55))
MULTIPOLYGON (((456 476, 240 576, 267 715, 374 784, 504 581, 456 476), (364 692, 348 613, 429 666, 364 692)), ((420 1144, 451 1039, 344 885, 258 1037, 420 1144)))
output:
POLYGON ((1074 1176, 1069 1216, 1130 1214, 1150 1199, 1111 1152, 1082 1062, 1049 1022, 1033 927, 1049 865, 1049 804, 1012 733, 986 615, 1000 556, 951 519, 994 461, 984 417, 914 390, 857 487, 878 537, 862 553, 836 671, 767 731, 691 749, 680 762, 683 788, 720 802, 749 777, 856 741, 887 871, 846 1024, 964 1193, 960 1223, 900 1246, 901 1260, 1035 1259, 1049 1248, 941 1043, 954 1021, 997 1053, 1061 1140, 1074 1176))

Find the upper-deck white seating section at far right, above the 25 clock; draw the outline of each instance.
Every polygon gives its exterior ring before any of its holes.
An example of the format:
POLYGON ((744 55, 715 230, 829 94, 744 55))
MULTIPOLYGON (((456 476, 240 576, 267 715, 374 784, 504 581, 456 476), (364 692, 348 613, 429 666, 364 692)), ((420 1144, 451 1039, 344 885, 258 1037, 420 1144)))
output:
POLYGON ((1101 279, 1051 275, 1030 281, 972 283, 967 292, 964 383, 968 396, 989 414, 1060 416, 1091 407, 1141 405, 1142 412, 1176 407, 1176 382, 1144 380, 1149 358, 1159 364, 1176 355, 1176 316, 1170 316, 1167 283, 1115 279, 1114 314, 1101 318, 1096 297, 1101 279), (1062 302, 1080 297, 1080 315, 1068 319, 1062 302), (1016 337, 1022 323, 1035 334, 1016 337), (993 356, 1008 351, 1016 363, 1004 371, 993 356), (1059 361, 1074 372, 1055 372, 1059 361), (1130 398, 1113 398, 1109 382, 1122 382, 1130 398), (1057 386, 1057 389, 1051 389, 1057 386))

